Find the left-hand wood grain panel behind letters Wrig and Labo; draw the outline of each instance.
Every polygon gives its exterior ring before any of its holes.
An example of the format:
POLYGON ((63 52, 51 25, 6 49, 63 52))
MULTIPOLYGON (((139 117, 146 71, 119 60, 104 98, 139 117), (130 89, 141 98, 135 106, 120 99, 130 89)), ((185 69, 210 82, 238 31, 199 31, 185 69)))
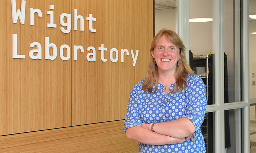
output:
MULTIPOLYGON (((71 0, 26 0, 25 24, 12 23, 11 0, 1 2, 0 52, 0 135, 71 126, 71 60, 60 59, 60 45, 71 45, 71 33, 60 31, 59 16, 70 13, 71 0), (66 4, 66 5, 64 5, 66 4), (54 23, 49 23, 49 5, 54 5, 54 23), (42 17, 34 15, 30 25, 29 9, 40 9, 42 17), (12 34, 17 34, 18 54, 25 59, 12 59, 12 34), (45 37, 57 46, 57 58, 45 60, 45 37), (42 59, 29 57, 32 42, 42 46, 42 59)), ((21 9, 21 0, 16 0, 21 9)), ((50 49, 50 54, 51 53, 50 49)), ((65 56, 65 54, 64 54, 65 56)))

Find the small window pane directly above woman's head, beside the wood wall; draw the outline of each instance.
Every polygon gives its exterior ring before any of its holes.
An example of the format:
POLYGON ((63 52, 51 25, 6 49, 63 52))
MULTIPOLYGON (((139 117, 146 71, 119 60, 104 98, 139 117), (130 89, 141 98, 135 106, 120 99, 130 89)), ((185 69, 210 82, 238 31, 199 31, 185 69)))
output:
POLYGON ((155 35, 163 28, 178 33, 178 1, 155 0, 155 35))

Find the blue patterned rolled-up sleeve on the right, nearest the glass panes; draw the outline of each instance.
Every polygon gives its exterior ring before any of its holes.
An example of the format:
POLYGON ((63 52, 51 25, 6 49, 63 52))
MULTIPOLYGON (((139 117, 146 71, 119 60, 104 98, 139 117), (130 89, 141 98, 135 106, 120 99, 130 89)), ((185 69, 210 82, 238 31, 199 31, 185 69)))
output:
POLYGON ((187 89, 188 101, 185 118, 193 122, 197 131, 204 120, 207 99, 206 88, 202 79, 198 77, 198 79, 194 81, 195 83, 192 83, 187 89))

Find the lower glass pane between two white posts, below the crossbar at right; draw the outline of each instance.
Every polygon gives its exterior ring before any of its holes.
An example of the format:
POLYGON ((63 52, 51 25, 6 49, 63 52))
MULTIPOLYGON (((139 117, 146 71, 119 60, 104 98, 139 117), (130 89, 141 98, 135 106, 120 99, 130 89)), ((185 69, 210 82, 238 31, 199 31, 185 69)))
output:
POLYGON ((225 110, 226 153, 242 152, 242 112, 241 109, 225 110))

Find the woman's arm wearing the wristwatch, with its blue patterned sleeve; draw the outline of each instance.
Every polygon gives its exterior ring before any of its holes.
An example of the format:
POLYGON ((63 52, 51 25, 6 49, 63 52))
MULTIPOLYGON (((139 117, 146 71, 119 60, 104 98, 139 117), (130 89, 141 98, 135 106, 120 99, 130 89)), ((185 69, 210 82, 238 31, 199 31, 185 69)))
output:
MULTIPOLYGON (((188 94, 186 96, 188 103, 185 116, 174 121, 154 124, 153 129, 156 133, 182 138, 192 135, 201 127, 206 111, 207 99, 204 83, 201 78, 198 78, 187 88, 188 94)), ((142 123, 142 126, 150 130, 152 124, 142 123)))

